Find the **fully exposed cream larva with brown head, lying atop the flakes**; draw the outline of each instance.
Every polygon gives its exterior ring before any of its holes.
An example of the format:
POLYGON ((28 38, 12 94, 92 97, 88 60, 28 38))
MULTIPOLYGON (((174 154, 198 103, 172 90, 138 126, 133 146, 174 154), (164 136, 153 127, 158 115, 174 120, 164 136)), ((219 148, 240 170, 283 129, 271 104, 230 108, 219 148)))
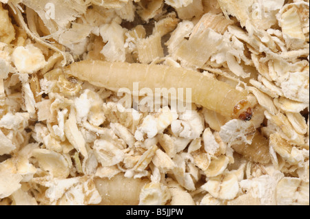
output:
POLYGON ((189 88, 192 89, 192 102, 195 104, 227 117, 251 118, 253 106, 247 101, 246 91, 238 91, 198 71, 165 65, 85 60, 69 65, 65 73, 116 92, 121 88, 133 91, 134 82, 139 83, 139 88, 149 88, 153 92, 156 88, 189 88))

